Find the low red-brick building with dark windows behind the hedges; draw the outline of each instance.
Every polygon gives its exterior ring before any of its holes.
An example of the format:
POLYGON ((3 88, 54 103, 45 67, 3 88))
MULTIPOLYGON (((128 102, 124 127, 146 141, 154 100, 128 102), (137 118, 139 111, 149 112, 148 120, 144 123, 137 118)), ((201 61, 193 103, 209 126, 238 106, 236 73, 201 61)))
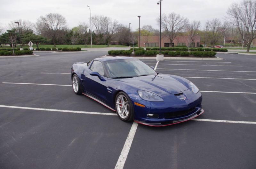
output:
MULTIPOLYGON (((170 47, 170 40, 164 36, 161 37, 161 47, 170 47)), ((159 47, 160 36, 140 36, 140 47, 159 47)), ((172 43, 172 46, 188 46, 188 36, 177 36, 172 43)), ((190 47, 200 46, 200 35, 196 35, 194 42, 190 42, 190 47)))

